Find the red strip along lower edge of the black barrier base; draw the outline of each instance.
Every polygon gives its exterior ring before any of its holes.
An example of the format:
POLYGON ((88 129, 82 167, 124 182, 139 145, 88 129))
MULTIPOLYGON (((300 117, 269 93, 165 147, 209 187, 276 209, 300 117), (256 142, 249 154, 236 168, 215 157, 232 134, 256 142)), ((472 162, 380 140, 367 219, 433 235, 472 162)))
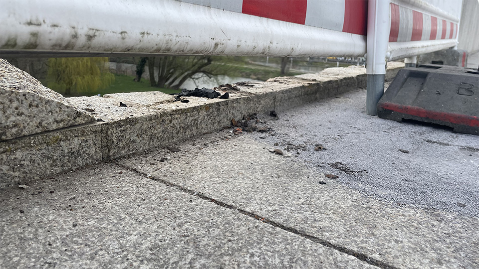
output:
POLYGON ((383 109, 417 116, 421 118, 443 121, 453 124, 460 124, 466 125, 470 127, 479 127, 479 117, 476 116, 468 116, 468 115, 461 115, 455 113, 446 113, 446 112, 436 112, 430 111, 419 107, 412 107, 412 106, 403 106, 397 105, 392 103, 385 103, 379 105, 383 109))

